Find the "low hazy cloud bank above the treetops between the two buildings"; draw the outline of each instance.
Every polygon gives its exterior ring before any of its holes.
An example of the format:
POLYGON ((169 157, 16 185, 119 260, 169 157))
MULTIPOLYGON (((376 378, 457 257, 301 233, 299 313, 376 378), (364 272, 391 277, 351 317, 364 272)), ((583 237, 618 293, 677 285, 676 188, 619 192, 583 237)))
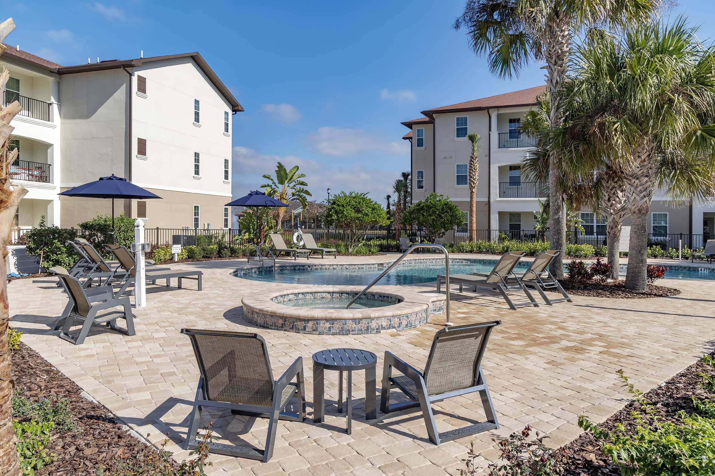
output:
POLYGON ((360 166, 334 167, 296 156, 263 155, 250 148, 235 146, 232 152, 234 198, 256 190, 265 182, 265 179, 261 178, 264 173, 275 176, 275 165, 278 161, 289 168, 300 167, 300 173, 305 173, 303 180, 308 184, 307 189, 312 193, 312 199, 317 201, 326 198, 325 191, 330 187, 331 193, 369 192, 370 198, 383 203, 383 197, 392 191, 392 184, 400 175, 398 170, 379 170, 360 166))

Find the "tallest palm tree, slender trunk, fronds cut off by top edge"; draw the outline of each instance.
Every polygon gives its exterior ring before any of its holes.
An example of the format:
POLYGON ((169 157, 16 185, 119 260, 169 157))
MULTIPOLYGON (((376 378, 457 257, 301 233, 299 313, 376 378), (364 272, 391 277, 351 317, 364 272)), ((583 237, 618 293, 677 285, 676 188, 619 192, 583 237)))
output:
MULTIPOLYGON (((471 49, 475 54, 486 54, 490 71, 501 78, 518 75, 531 61, 546 63, 548 124, 558 127, 563 121, 559 86, 566 76, 573 37, 598 24, 645 20, 657 4, 658 0, 467 0, 453 27, 467 30, 471 49)), ((566 211, 561 157, 549 151, 548 161, 551 248, 562 250, 563 255, 566 211)), ((563 277, 561 257, 553 260, 551 273, 563 277)))

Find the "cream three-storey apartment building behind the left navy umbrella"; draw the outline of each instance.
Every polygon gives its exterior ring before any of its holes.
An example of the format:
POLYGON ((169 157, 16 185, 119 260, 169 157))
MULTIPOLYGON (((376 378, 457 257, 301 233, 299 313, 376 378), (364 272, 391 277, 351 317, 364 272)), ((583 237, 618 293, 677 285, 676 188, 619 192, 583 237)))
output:
POLYGON ((243 111, 198 53, 61 66, 13 46, 4 103, 29 193, 18 225, 77 226, 112 203, 57 193, 114 173, 162 197, 115 201, 117 213, 159 228, 230 228, 231 131, 243 111), (64 158, 62 160, 61 158, 64 158))

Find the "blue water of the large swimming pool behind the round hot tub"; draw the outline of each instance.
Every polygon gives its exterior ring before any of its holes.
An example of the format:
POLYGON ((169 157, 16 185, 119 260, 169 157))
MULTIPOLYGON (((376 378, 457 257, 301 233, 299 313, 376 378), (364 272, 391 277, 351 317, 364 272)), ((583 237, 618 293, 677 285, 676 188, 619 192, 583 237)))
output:
MULTIPOLYGON (((497 260, 450 258, 450 274, 489 273, 497 260)), ((363 285, 370 284, 388 263, 371 265, 323 265, 290 264, 265 268, 236 270, 233 275, 250 280, 270 281, 289 284, 318 285, 363 285)), ((521 274, 528 268, 528 262, 519 263, 516 273, 521 274)), ((385 275, 378 285, 403 285, 432 283, 445 271, 444 260, 426 258, 403 260, 385 275)), ((626 274, 626 265, 621 265, 621 275, 626 274)), ((715 269, 698 268, 696 265, 671 266, 666 271, 666 278, 715 280, 715 269)))

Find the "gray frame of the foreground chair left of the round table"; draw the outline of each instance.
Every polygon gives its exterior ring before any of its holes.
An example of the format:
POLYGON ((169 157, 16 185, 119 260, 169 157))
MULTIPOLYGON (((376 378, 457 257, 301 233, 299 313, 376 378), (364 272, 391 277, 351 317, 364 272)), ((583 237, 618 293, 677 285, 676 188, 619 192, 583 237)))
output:
POLYGON ((199 423, 201 422, 201 412, 202 407, 218 407, 231 410, 235 415, 250 415, 254 417, 268 417, 270 420, 268 422, 268 434, 266 436, 265 449, 260 450, 255 447, 227 447, 226 445, 213 446, 209 445, 209 452, 215 452, 220 455, 229 455, 236 457, 250 458, 251 460, 261 460, 262 462, 267 462, 273 455, 273 447, 275 446, 275 435, 278 430, 278 420, 289 420, 293 422, 302 422, 306 417, 306 401, 305 401, 305 372, 303 370, 303 360, 302 357, 297 358, 287 370, 280 376, 278 380, 273 381, 273 372, 270 366, 270 358, 268 356, 268 350, 265 340, 262 336, 258 334, 251 333, 232 333, 228 331, 223 331, 221 333, 212 332, 210 330, 197 330, 197 329, 182 329, 181 333, 188 335, 191 339, 191 345, 194 349, 194 355, 197 362, 199 363, 199 372, 201 376, 199 377, 199 385, 196 390, 196 397, 194 398, 194 405, 191 412, 191 417, 189 418, 189 430, 187 432, 187 439, 184 442, 184 450, 194 450, 198 447, 196 442, 196 435, 199 429, 199 423), (230 403, 230 402, 220 402, 216 400, 209 400, 207 388, 204 385, 206 381, 206 375, 204 374, 204 366, 201 358, 201 351, 198 348, 196 340, 193 338, 194 335, 216 335, 221 337, 226 337, 230 335, 237 339, 241 338, 253 338, 260 340, 263 348, 263 358, 267 366, 270 380, 273 381, 273 392, 272 392, 272 406, 262 406, 262 405, 245 405, 242 403, 230 403), (285 402, 284 405, 280 405, 282 392, 287 386, 292 383, 292 380, 297 380, 296 390, 291 397, 298 397, 298 412, 283 412, 285 406, 290 402, 290 398, 285 402))

